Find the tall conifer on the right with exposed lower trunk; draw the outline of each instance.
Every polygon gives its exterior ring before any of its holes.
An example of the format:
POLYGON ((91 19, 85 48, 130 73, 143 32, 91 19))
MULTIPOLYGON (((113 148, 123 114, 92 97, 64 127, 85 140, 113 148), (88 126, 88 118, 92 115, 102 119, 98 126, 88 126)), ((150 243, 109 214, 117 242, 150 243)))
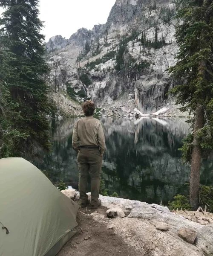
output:
POLYGON ((177 27, 180 47, 177 64, 170 68, 179 81, 171 93, 190 119, 193 132, 184 140, 183 157, 191 163, 190 205, 199 204, 201 157, 213 150, 213 0, 189 0, 178 11, 183 23, 177 27))

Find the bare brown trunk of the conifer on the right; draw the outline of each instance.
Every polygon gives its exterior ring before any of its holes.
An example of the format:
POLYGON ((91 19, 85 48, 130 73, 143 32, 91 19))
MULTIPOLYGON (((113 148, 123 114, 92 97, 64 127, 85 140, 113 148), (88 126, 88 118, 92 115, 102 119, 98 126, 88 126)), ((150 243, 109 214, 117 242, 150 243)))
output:
POLYGON ((200 103, 196 106, 195 111, 195 128, 193 140, 193 152, 191 162, 191 177, 190 177, 190 205, 195 211, 198 209, 199 204, 199 187, 200 187, 200 168, 201 168, 201 146, 197 132, 204 126, 204 111, 200 103))

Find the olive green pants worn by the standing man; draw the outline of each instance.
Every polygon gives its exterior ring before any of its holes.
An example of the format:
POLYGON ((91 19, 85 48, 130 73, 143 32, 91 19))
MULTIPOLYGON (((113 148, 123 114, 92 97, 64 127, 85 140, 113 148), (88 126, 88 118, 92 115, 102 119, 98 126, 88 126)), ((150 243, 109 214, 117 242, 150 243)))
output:
POLYGON ((91 177, 91 205, 98 204, 102 157, 98 148, 81 148, 78 153, 79 193, 81 204, 87 203, 88 175, 91 177))

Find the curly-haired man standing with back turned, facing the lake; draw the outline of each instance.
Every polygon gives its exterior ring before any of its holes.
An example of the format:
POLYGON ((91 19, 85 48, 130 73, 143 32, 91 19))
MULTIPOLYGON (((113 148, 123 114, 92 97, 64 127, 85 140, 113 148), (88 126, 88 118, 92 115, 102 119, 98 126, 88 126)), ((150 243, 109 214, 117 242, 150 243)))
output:
POLYGON ((92 115, 95 111, 95 104, 88 100, 82 105, 85 117, 75 123, 72 145, 78 152, 79 167, 79 193, 81 207, 87 204, 87 179, 91 177, 91 207, 92 209, 101 206, 99 198, 102 157, 106 150, 105 137, 101 122, 92 115))

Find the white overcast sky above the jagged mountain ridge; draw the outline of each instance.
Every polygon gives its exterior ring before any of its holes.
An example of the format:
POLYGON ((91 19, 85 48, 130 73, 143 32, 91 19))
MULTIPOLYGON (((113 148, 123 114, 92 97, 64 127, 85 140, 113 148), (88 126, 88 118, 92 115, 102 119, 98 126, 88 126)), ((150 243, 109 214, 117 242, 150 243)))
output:
POLYGON ((46 41, 54 35, 69 38, 78 29, 107 22, 115 0, 40 0, 40 19, 46 41))

